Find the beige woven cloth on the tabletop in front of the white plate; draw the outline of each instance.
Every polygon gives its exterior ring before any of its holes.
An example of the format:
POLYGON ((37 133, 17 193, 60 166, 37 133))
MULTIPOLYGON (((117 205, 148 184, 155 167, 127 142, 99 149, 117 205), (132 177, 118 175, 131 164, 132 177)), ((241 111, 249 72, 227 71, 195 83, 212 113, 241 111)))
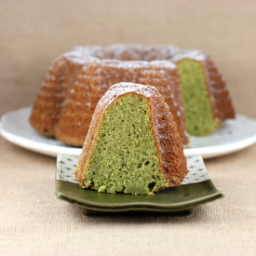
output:
POLYGON ((226 196, 190 216, 92 218, 56 198, 55 157, 0 142, 0 255, 255 253, 256 145, 205 161, 226 196))

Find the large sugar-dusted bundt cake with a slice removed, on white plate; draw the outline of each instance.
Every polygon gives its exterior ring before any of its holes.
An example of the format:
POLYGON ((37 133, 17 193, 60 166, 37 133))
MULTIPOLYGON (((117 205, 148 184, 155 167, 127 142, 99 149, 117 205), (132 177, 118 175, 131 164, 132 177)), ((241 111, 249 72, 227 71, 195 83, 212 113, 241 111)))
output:
POLYGON ((186 129, 190 135, 208 135, 235 117, 222 75, 205 53, 173 46, 113 45, 74 47, 54 61, 30 122, 44 135, 80 146, 97 102, 118 82, 155 86, 168 103, 183 144, 188 142, 186 129))

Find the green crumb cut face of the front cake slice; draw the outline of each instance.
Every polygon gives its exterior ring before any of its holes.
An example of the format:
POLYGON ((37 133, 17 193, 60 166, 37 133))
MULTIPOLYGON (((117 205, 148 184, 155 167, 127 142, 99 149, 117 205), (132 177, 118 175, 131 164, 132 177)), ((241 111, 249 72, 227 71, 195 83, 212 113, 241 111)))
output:
POLYGON ((127 94, 108 108, 84 183, 99 192, 141 195, 167 186, 160 174, 146 99, 127 94))

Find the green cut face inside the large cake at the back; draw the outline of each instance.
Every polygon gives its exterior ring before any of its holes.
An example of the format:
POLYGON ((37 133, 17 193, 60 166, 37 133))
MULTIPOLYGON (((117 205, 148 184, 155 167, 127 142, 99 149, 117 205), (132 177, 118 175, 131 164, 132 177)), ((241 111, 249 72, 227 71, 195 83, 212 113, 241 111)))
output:
POLYGON ((181 75, 187 131, 190 135, 207 136, 218 128, 219 124, 215 121, 209 101, 203 64, 186 59, 180 61, 177 66, 181 75))

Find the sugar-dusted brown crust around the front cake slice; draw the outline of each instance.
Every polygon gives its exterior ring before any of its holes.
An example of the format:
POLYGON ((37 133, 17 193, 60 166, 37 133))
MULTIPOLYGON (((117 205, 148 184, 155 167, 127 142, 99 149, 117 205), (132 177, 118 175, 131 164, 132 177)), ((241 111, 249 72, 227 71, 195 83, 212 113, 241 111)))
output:
POLYGON ((183 154, 181 137, 173 115, 169 112, 168 104, 158 90, 151 86, 142 86, 131 83, 119 83, 109 88, 99 101, 88 130, 82 154, 79 157, 76 169, 76 180, 85 182, 86 169, 92 153, 94 142, 101 127, 101 120, 106 110, 118 99, 127 94, 136 94, 149 102, 151 123, 157 155, 162 176, 168 181, 168 186, 179 186, 186 176, 186 157, 183 154))

